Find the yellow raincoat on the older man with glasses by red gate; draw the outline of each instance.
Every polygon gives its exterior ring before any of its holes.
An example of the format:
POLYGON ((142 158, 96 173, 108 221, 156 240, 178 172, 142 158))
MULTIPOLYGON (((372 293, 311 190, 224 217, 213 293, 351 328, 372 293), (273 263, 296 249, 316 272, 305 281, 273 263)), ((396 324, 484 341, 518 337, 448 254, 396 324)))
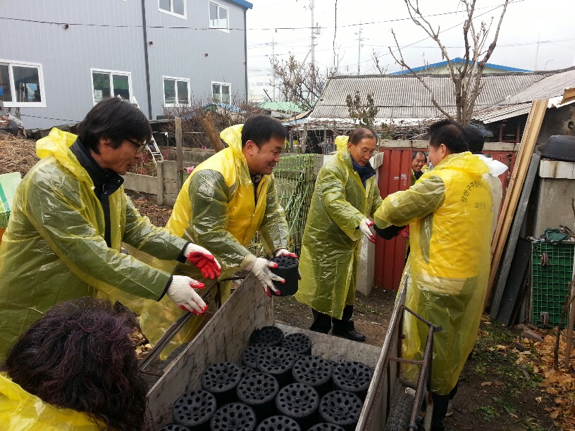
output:
POLYGON ((321 167, 302 239, 302 281, 295 299, 341 319, 355 301, 361 220, 381 204, 375 177, 365 188, 352 166, 347 137, 336 137, 338 154, 321 167))

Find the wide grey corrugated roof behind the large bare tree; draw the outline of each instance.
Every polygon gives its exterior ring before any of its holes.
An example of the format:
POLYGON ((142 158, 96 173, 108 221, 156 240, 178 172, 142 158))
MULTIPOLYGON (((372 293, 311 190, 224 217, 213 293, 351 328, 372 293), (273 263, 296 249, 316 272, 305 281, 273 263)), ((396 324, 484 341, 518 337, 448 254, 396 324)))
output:
MULTIPOLYGON (((493 106, 508 96, 543 80, 548 73, 502 73, 482 77, 483 90, 476 101, 476 109, 493 106)), ((435 100, 447 112, 455 112, 453 83, 448 75, 421 75, 430 87, 435 100)), ((345 75, 328 80, 321 99, 311 117, 349 118, 345 96, 359 91, 362 100, 373 94, 378 108, 376 118, 435 118, 440 111, 431 103, 428 90, 411 75, 345 75)))

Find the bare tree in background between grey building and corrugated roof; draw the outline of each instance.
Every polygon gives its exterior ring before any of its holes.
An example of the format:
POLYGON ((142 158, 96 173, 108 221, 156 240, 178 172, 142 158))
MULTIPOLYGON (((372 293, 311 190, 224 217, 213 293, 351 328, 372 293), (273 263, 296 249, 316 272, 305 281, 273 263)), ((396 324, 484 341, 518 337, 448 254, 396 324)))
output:
POLYGON ((332 70, 322 73, 316 64, 299 63, 292 55, 287 60, 272 60, 271 67, 285 101, 306 111, 314 107, 314 100, 321 96, 328 75, 333 74, 332 70))

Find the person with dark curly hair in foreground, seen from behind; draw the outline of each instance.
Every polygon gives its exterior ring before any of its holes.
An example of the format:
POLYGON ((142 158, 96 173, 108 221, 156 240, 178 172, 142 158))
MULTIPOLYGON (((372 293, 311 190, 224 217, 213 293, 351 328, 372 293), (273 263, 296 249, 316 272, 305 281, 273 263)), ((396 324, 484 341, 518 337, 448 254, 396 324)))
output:
POLYGON ((3 429, 139 431, 146 382, 130 335, 134 316, 105 299, 52 307, 8 352, 0 368, 3 429))

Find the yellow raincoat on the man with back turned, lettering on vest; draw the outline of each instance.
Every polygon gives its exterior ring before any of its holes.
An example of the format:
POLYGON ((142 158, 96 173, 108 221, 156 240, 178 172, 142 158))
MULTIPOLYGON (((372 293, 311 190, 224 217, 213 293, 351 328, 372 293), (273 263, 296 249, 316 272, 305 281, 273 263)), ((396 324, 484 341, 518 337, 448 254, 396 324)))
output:
MULTIPOLYGON (((378 227, 409 223, 411 270, 406 306, 443 331, 433 338, 431 389, 449 394, 477 339, 490 265, 491 192, 486 163, 447 156, 408 190, 390 194, 378 227)), ((421 358, 428 327, 406 313, 405 358, 421 358)), ((404 368, 414 378, 413 366, 404 368)))

